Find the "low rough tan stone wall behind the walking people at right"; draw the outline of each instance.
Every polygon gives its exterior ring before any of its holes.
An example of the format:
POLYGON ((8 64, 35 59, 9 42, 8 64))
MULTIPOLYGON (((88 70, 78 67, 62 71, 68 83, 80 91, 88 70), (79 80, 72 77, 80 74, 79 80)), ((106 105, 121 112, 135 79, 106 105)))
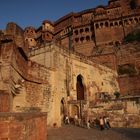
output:
POLYGON ((140 128, 139 99, 130 100, 132 99, 98 103, 91 109, 91 113, 88 112, 90 119, 108 116, 111 127, 140 128))

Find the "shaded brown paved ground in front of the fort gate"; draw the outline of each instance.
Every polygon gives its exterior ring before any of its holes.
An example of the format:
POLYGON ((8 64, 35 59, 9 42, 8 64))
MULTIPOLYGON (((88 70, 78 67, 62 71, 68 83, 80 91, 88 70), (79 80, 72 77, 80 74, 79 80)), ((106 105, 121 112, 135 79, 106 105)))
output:
POLYGON ((140 140, 140 129, 111 128, 100 131, 66 125, 61 128, 49 128, 47 140, 140 140))

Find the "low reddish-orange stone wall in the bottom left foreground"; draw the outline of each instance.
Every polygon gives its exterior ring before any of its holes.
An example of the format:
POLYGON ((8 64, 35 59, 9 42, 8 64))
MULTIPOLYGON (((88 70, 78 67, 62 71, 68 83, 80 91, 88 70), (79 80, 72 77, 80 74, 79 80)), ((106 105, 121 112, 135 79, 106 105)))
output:
POLYGON ((46 113, 0 113, 1 140, 47 140, 46 113))

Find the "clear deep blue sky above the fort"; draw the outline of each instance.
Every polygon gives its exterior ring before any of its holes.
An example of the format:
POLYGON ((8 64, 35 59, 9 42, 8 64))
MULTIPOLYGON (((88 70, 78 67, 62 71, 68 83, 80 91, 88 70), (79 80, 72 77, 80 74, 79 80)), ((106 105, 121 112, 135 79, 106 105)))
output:
POLYGON ((45 19, 56 21, 70 12, 107 3, 108 0, 0 0, 0 29, 5 29, 8 22, 16 22, 23 29, 38 28, 45 19))

